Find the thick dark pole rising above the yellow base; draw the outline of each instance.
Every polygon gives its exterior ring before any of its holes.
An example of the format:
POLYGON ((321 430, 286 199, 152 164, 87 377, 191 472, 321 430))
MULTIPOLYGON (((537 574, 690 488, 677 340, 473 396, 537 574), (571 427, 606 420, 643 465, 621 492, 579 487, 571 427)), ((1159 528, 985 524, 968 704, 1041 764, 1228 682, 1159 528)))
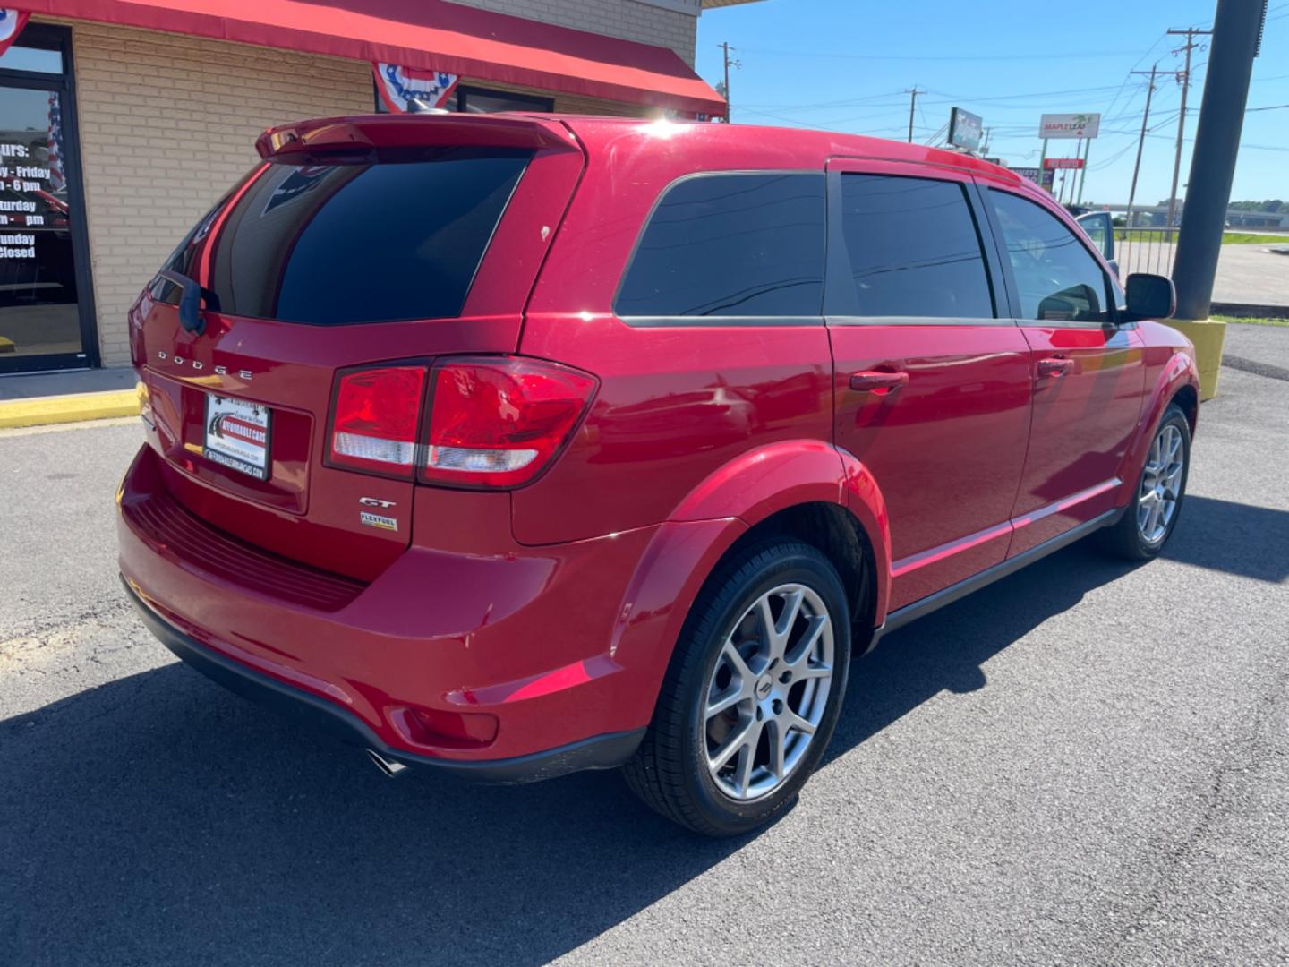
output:
POLYGON ((1213 278, 1249 99, 1249 77, 1253 58, 1262 45, 1266 15, 1266 0, 1218 0, 1217 4, 1213 53, 1204 79, 1190 186, 1182 209, 1186 231, 1177 241, 1173 263, 1178 318, 1208 318, 1212 308, 1213 278))

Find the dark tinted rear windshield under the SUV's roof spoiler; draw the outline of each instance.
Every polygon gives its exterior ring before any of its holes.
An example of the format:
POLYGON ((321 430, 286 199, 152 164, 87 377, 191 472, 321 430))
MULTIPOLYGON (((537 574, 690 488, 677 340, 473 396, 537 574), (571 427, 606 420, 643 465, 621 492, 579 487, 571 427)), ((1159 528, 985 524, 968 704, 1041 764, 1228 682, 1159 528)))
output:
MULTIPOLYGON (((217 312, 312 325, 459 316, 531 151, 419 150, 272 164, 166 263, 217 312)), ((178 302, 159 282, 153 297, 178 302)))

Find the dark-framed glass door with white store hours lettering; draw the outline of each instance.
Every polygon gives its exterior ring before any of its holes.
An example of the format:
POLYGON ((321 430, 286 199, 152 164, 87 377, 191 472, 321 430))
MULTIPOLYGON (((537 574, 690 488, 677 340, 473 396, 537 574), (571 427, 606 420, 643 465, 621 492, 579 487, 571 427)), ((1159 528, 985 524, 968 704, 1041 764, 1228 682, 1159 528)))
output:
POLYGON ((66 31, 0 58, 0 373, 98 364, 66 31))

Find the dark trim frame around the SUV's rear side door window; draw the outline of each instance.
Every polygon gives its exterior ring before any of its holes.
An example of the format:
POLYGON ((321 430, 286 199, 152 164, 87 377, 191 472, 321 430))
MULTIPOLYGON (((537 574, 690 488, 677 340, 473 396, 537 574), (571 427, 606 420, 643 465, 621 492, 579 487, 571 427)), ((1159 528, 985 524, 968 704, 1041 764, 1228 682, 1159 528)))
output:
MULTIPOLYGON (((835 161, 855 161, 856 159, 834 159, 835 161)), ((873 159, 883 162, 884 159, 873 159)), ((905 165, 901 165, 905 166, 905 165)), ((824 275, 824 316, 830 326, 858 326, 858 325, 920 325, 920 326, 954 326, 954 325, 1016 325, 1008 311, 1011 308, 1011 293, 1002 275, 1002 266, 996 257, 993 241, 993 222, 986 220, 986 206, 981 202, 973 179, 945 177, 946 173, 956 174, 956 169, 947 166, 916 165, 907 162, 907 168, 916 166, 919 170, 893 174, 882 170, 867 170, 865 168, 839 168, 830 165, 828 169, 828 257, 825 259, 824 275), (920 169, 926 169, 924 171, 920 169), (842 178, 847 174, 875 175, 884 178, 922 178, 924 181, 944 182, 956 184, 963 190, 967 209, 976 226, 976 240, 980 245, 981 259, 985 263, 985 280, 989 285, 990 299, 994 306, 993 316, 870 316, 858 312, 858 294, 851 280, 851 258, 846 245, 846 232, 843 227, 843 199, 842 178), (987 236, 987 237, 986 237, 987 236)))

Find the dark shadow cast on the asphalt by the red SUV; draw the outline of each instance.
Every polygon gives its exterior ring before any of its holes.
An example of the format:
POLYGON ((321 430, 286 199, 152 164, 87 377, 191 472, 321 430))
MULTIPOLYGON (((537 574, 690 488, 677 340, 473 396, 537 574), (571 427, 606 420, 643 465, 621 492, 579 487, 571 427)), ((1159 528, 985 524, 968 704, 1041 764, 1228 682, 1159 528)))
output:
MULTIPOLYGON (((1128 569, 1069 548, 892 634, 829 762, 1128 569)), ((3 963, 543 963, 745 842, 612 772, 388 781, 178 664, 0 722, 0 776, 3 963)))

